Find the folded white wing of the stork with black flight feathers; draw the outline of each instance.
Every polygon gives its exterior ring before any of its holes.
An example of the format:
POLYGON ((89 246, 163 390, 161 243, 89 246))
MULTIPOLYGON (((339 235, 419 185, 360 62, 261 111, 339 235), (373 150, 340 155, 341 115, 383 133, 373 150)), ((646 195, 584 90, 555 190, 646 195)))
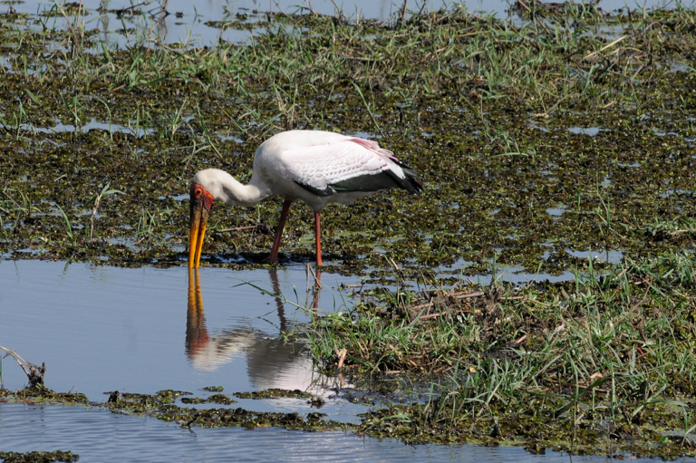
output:
POLYGON ((406 188, 402 183, 410 183, 399 159, 372 140, 351 138, 284 150, 281 159, 297 185, 319 196, 406 188))

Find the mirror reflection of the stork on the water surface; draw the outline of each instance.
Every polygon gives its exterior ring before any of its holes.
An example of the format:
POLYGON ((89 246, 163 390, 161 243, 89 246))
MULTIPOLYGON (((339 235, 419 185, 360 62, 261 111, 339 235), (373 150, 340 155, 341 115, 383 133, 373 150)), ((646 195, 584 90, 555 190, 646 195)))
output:
MULTIPOLYGON (((280 294, 275 269, 269 270, 274 294, 280 294)), ((321 292, 321 274, 314 276, 314 284, 307 285, 307 302, 316 309, 321 292)), ((285 333, 288 322, 282 297, 275 297, 279 332, 285 333)), ((186 317, 186 354, 197 370, 215 371, 236 357, 247 359, 247 374, 259 389, 312 389, 320 381, 314 375, 311 360, 301 342, 288 342, 281 336, 269 336, 248 326, 230 327, 208 333, 198 269, 189 268, 188 311, 186 317)), ((320 381, 321 382, 321 381, 320 381)))

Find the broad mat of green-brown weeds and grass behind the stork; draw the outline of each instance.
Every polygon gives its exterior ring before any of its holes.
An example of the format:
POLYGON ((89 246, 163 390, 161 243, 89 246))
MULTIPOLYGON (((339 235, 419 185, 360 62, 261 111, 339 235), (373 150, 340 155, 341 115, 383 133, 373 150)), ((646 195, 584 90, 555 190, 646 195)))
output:
MULTIPOLYGON (((649 227, 696 212, 694 12, 529 7, 524 23, 459 8, 388 24, 264 14, 250 43, 118 50, 76 35, 76 12, 66 31, 0 15, 0 252, 179 265, 192 173, 247 181, 256 146, 291 128, 379 138, 422 173, 422 198, 326 210, 336 271, 369 265, 379 280, 387 256, 409 275, 477 275, 494 258, 558 275, 586 267, 571 252, 689 246, 690 232, 656 239, 649 227), (63 39, 75 46, 54 50, 63 39), (105 185, 123 194, 102 202, 89 239, 83 207, 105 185)), ((208 265, 262 260, 277 208, 221 208, 208 265)), ((310 218, 288 219, 290 260, 311 256, 310 218)))

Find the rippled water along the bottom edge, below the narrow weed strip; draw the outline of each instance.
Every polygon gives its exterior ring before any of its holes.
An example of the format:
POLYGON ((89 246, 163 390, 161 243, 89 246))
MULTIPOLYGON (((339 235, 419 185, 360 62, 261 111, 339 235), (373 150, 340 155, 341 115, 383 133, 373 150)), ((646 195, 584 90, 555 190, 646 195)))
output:
MULTIPOLYGON (((362 439, 343 432, 181 429, 103 410, 0 404, 0 448, 5 451, 70 449, 91 461, 458 461, 594 462, 556 452, 531 455, 524 449, 407 446, 385 439, 362 439), (28 421, 31 420, 31 424, 28 421)), ((642 461, 651 461, 648 459, 642 461)), ((677 461, 687 461, 686 459, 677 461)))

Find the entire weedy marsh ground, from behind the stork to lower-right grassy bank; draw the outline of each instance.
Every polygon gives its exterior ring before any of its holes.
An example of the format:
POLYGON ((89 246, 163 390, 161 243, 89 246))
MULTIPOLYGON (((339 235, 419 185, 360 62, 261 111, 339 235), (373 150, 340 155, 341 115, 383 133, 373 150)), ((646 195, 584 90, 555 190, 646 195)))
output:
MULTIPOLYGON (((244 181, 280 130, 370 137, 425 191, 325 209, 325 269, 384 290, 291 335, 365 389, 402 375, 437 393, 356 432, 694 456, 696 13, 517 6, 518 22, 258 14, 250 43, 123 30, 111 49, 80 10, 52 10, 57 29, 0 14, 0 256, 183 265, 195 171, 244 181), (497 265, 574 278, 468 279, 497 265)), ((259 265, 278 206, 218 207, 205 265, 259 265)), ((312 259, 311 219, 291 213, 281 263, 312 259)))

